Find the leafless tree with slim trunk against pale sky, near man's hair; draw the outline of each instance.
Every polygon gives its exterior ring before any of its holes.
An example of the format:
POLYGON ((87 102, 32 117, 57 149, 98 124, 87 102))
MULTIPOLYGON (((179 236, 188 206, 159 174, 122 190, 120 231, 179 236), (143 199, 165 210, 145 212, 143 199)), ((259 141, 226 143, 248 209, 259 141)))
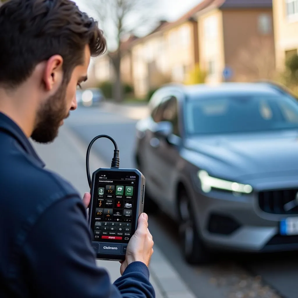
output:
MULTIPOLYGON (((86 0, 90 1, 90 0, 86 0)), ((153 7, 156 0, 93 0, 101 29, 108 40, 115 45, 115 51, 108 51, 115 73, 114 99, 123 99, 121 83, 121 47, 123 37, 140 31, 145 24, 154 21, 153 7)), ((140 32, 139 32, 140 33, 140 32)))

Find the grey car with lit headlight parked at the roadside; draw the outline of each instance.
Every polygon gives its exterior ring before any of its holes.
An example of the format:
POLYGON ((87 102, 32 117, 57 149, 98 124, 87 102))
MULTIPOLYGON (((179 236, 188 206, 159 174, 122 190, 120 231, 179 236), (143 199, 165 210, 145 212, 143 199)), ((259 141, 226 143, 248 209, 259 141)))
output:
POLYGON ((270 83, 164 86, 136 125, 145 209, 179 224, 189 263, 213 250, 298 249, 298 104, 270 83))

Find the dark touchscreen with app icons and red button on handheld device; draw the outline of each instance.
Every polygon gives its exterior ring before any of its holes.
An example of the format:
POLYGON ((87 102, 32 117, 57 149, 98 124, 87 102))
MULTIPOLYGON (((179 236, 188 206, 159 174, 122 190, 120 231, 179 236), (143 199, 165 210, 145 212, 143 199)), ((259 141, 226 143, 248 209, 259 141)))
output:
POLYGON ((91 229, 93 241, 128 243, 134 234, 139 176, 101 171, 95 176, 91 229))

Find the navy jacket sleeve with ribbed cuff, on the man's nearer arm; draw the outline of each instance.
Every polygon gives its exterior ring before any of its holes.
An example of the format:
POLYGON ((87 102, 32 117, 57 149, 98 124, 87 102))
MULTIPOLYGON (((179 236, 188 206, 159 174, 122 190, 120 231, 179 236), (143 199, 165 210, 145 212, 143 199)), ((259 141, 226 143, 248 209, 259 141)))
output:
POLYGON ((77 197, 40 216, 25 242, 22 267, 30 297, 155 297, 144 263, 131 263, 114 284, 96 266, 86 209, 77 197))

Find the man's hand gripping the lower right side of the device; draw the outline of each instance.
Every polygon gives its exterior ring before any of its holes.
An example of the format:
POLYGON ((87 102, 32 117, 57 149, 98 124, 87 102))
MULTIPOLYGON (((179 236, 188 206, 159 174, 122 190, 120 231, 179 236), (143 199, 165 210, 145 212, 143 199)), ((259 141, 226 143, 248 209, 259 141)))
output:
POLYGON ((149 265, 153 254, 153 239, 148 230, 148 215, 142 213, 138 219, 136 232, 129 240, 125 260, 121 263, 120 273, 123 274, 125 268, 132 262, 143 262, 149 265))

